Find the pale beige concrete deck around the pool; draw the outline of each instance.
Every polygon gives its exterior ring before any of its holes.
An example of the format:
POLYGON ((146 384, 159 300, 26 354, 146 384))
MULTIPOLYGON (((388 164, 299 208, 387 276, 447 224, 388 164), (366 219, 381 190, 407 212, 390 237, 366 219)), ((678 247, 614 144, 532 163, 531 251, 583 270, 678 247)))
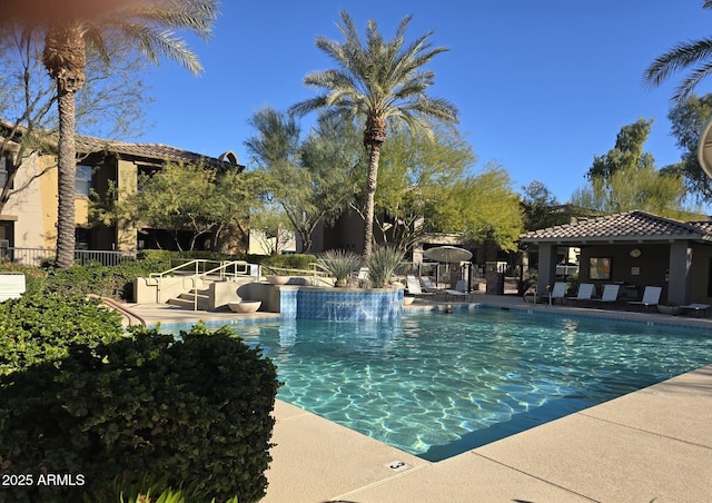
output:
MULTIPOLYGON (((712 331, 709 318, 474 300, 712 331)), ((130 307, 148 323, 256 317, 130 307)), ((712 501, 712 365, 438 463, 280 401, 275 417, 266 503, 712 501)))

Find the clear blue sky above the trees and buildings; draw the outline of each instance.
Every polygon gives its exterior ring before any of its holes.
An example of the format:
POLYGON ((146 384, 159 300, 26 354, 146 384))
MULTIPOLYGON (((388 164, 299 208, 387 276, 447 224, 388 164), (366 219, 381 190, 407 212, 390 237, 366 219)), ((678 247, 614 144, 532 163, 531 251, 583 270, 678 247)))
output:
MULTIPOLYGON (((348 11, 363 29, 375 19, 389 39, 413 14, 408 38, 434 30, 431 95, 454 102, 475 167, 503 165, 514 188, 543 181, 561 203, 584 184, 594 155, 622 126, 654 119, 645 149, 659 167, 680 159, 666 115, 679 78, 646 89, 642 72, 675 43, 712 36, 702 0, 225 0, 212 40, 190 40, 205 66, 195 78, 171 62, 147 75, 156 101, 139 141, 249 164, 247 120, 314 96, 303 85, 333 68, 317 36, 342 40, 335 23, 348 11)), ((698 93, 710 92, 712 81, 698 93)), ((304 122, 307 126, 307 122, 304 122)))

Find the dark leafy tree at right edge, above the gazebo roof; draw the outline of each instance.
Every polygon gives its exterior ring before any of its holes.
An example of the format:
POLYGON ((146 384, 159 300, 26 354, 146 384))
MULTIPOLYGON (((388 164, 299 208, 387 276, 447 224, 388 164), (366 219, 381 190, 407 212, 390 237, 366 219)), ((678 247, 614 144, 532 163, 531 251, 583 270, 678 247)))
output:
POLYGON ((689 195, 699 203, 712 203, 712 180, 698 160, 700 132, 712 119, 712 95, 699 98, 693 93, 684 101, 676 102, 670 109, 668 119, 672 122, 672 136, 678 139, 682 156, 679 164, 666 166, 663 170, 682 175, 689 195))

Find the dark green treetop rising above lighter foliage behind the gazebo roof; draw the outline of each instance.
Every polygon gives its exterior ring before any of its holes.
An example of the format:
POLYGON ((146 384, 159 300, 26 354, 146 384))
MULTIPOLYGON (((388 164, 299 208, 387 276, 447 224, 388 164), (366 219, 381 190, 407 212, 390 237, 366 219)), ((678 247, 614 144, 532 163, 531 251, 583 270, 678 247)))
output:
POLYGON ((652 125, 652 120, 639 119, 623 126, 615 138, 615 147, 604 156, 593 156, 593 166, 589 169, 586 177, 607 179, 619 170, 654 166, 655 159, 652 154, 643 151, 643 145, 647 141, 652 125))

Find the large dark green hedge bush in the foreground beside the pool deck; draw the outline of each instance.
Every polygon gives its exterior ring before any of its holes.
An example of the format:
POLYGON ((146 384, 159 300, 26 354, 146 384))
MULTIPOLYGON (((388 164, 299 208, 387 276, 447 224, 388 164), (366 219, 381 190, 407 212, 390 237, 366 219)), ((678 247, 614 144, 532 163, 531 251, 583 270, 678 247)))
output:
MULTIPOLYGON (((57 364, 57 362, 56 362, 57 364)), ((14 487, 8 501, 116 502, 145 473, 196 487, 205 501, 263 497, 276 371, 229 328, 179 337, 136 331, 59 365, 0 377, 0 474, 82 474, 81 487, 14 487), (47 490, 47 491, 42 491, 47 490), (79 500, 78 500, 79 501, 79 500)))

